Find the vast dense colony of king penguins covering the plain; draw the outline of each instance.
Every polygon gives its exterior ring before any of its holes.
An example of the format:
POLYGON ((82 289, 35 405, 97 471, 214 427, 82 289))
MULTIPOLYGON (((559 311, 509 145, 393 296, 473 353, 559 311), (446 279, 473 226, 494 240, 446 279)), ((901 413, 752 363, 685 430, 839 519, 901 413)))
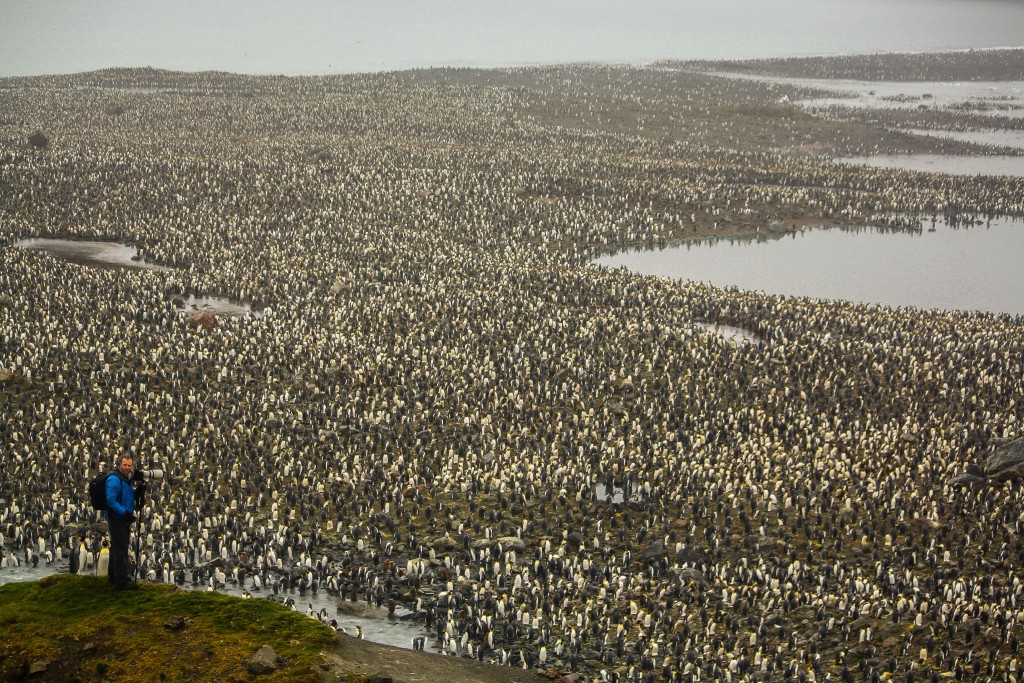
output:
POLYGON ((592 680, 1024 675, 1021 488, 949 481, 1022 435, 1024 321, 589 265, 768 220, 1021 216, 1024 179, 836 166, 862 129, 679 71, 0 85, 4 564, 92 566, 85 482, 130 453, 169 474, 143 578, 400 606, 416 649, 592 680), (183 294, 264 314, 196 328, 183 294))

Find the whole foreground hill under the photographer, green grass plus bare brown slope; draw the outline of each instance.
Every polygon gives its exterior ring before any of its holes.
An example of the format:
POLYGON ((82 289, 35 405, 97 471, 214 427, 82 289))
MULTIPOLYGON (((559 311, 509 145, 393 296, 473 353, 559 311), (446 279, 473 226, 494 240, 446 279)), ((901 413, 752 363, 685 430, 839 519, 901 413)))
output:
POLYGON ((162 584, 118 592, 96 577, 0 586, 0 681, 545 680, 339 636, 270 600, 162 584), (172 628, 180 617, 184 626, 172 628), (278 669, 254 675, 246 659, 263 645, 278 654, 278 669))

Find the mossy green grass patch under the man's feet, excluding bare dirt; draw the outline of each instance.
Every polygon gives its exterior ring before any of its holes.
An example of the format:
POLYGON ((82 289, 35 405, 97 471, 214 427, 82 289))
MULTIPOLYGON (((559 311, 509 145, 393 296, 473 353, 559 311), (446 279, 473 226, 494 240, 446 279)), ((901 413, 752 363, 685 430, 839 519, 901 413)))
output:
POLYGON ((283 659, 261 681, 317 677, 321 651, 334 633, 263 599, 143 584, 114 591, 95 577, 54 575, 0 586, 0 680, 243 681, 244 660, 262 645, 283 659), (169 631, 171 616, 186 626, 169 631))

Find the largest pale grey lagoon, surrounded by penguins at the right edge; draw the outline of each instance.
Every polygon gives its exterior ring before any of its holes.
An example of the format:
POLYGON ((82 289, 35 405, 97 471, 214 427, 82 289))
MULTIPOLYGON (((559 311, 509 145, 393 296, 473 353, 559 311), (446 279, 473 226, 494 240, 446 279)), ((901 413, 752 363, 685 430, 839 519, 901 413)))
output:
POLYGON ((1024 315, 1024 220, 922 230, 810 228, 623 252, 597 264, 784 296, 1024 315))

